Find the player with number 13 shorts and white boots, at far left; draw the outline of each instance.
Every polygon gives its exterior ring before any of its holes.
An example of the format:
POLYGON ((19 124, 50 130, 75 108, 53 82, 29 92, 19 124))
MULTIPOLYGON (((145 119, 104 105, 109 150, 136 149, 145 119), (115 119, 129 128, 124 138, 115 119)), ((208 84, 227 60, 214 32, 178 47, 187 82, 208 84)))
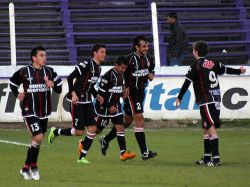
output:
POLYGON ((63 81, 52 68, 45 65, 45 48, 39 46, 32 49, 31 60, 31 64, 13 74, 10 88, 21 101, 22 116, 32 137, 20 174, 25 180, 39 180, 37 159, 51 114, 51 88, 61 93, 63 81), (18 91, 21 84, 23 92, 18 91))

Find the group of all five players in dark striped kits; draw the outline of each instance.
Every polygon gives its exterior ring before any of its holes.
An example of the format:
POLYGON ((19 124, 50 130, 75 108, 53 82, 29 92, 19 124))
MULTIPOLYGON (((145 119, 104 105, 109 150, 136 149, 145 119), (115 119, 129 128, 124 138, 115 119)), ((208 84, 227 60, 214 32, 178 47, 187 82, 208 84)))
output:
MULTIPOLYGON (((157 153, 147 148, 144 133, 143 101, 148 80, 154 79, 154 62, 147 54, 149 43, 145 36, 134 38, 133 52, 126 57, 119 57, 112 69, 102 77, 100 64, 105 61, 106 47, 97 44, 92 49, 92 57, 80 62, 67 77, 70 112, 72 115, 71 128, 54 128, 49 132, 48 142, 51 144, 56 137, 82 136, 87 128, 86 136, 79 141, 78 163, 90 163, 87 153, 96 134, 101 133, 109 120, 113 123, 111 131, 100 136, 101 152, 106 155, 109 142, 117 138, 120 148, 120 160, 133 159, 136 154, 128 152, 124 129, 134 121, 134 132, 141 151, 141 158, 147 160, 157 156, 157 153), (98 81, 99 80, 99 81, 98 81), (97 90, 95 89, 97 85, 97 90), (96 98, 95 104, 92 96, 96 98), (123 114, 120 98, 123 98, 123 114)), ((205 166, 219 166, 219 140, 216 128, 220 123, 220 87, 217 75, 224 73, 242 74, 246 69, 233 69, 221 63, 215 63, 206 58, 208 45, 203 42, 193 44, 193 55, 196 62, 190 66, 185 82, 176 99, 181 104, 185 92, 193 82, 196 102, 200 106, 202 128, 204 129, 204 156, 196 164, 205 166)), ((37 167, 39 147, 47 129, 48 116, 51 114, 51 95, 53 89, 57 93, 62 91, 62 80, 56 72, 47 67, 46 51, 43 47, 36 47, 31 51, 32 63, 21 68, 10 78, 10 88, 21 101, 22 116, 27 129, 31 133, 31 144, 21 176, 25 180, 39 180, 37 167), (23 92, 19 86, 23 84, 23 92)))

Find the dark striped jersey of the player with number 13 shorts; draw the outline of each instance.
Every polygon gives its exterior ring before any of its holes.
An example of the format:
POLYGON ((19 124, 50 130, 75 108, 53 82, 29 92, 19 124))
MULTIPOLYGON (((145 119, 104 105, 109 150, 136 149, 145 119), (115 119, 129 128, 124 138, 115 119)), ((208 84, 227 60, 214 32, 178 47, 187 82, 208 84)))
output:
POLYGON ((21 102, 22 116, 43 119, 51 114, 51 89, 46 86, 44 78, 53 81, 53 90, 57 93, 62 91, 62 79, 48 66, 35 69, 32 64, 19 69, 10 78, 10 88, 17 97, 18 88, 22 84, 25 92, 21 102))

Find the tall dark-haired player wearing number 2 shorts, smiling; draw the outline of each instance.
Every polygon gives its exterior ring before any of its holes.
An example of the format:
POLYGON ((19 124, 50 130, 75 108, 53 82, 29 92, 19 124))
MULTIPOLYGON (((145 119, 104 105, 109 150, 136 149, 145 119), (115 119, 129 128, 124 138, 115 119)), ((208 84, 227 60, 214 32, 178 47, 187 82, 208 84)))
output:
MULTIPOLYGON (((156 152, 149 151, 146 146, 144 134, 143 101, 145 88, 148 80, 154 78, 155 64, 147 54, 149 50, 148 40, 145 36, 139 35, 134 38, 133 53, 127 56, 129 65, 124 73, 126 93, 128 97, 124 101, 125 128, 133 120, 135 121, 135 137, 141 151, 141 158, 147 160, 157 155, 156 152)), ((102 154, 106 155, 109 142, 116 137, 116 129, 112 128, 106 136, 100 137, 102 154)))

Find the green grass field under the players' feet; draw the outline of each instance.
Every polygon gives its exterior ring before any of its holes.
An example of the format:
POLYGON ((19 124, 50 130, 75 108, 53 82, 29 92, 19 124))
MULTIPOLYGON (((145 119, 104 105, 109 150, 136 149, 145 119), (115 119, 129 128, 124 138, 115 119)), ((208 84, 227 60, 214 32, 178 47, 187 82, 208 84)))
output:
MULTIPOLYGON (((146 136, 148 147, 158 152, 155 159, 140 158, 134 134, 128 130, 127 147, 138 154, 135 159, 119 161, 116 141, 102 156, 96 139, 88 154, 89 165, 76 162, 79 138, 59 137, 53 145, 46 139, 39 156, 40 181, 24 181, 19 176, 25 146, 0 143, 0 186, 250 186, 249 127, 219 131, 222 166, 213 168, 194 164, 203 151, 200 128, 149 130, 146 136)), ((2 129, 0 139, 28 144, 29 134, 26 129, 2 129)))

